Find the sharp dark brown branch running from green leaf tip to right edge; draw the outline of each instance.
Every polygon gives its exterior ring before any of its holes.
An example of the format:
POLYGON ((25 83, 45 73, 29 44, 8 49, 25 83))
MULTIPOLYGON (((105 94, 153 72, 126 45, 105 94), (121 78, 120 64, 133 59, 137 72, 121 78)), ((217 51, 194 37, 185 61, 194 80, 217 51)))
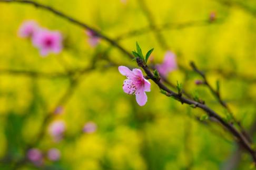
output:
POLYGON ((251 147, 250 142, 246 139, 246 137, 244 137, 243 134, 241 134, 237 129, 235 129, 235 127, 232 124, 230 124, 229 122, 222 119, 221 116, 218 113, 213 111, 207 105, 205 105, 203 103, 200 103, 200 102, 197 102, 197 101, 194 101, 194 100, 191 100, 191 99, 188 99, 188 98, 185 98, 181 94, 170 90, 161 81, 159 81, 158 78, 155 78, 155 76, 153 75, 153 73, 151 72, 149 67, 144 66, 142 64, 143 62, 140 59, 137 59, 136 61, 137 61, 138 66, 143 68, 146 75, 151 80, 153 80, 161 90, 166 92, 166 96, 172 97, 173 99, 181 102, 182 104, 185 103, 185 104, 188 104, 190 106, 193 106, 193 108, 201 108, 205 113, 208 114, 208 116, 210 118, 218 120, 218 122, 222 126, 224 126, 231 134, 233 134, 233 136, 238 140, 238 142, 241 144, 241 146, 243 146, 243 148, 252 156, 254 163, 256 163, 255 151, 251 147))

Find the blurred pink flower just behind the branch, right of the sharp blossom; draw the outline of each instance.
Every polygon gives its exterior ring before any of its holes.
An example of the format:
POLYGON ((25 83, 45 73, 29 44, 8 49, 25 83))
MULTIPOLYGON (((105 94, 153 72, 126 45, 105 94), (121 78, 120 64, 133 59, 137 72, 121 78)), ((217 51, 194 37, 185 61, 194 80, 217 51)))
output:
POLYGON ((167 51, 163 63, 156 65, 156 69, 159 71, 161 76, 168 76, 168 73, 177 69, 176 56, 173 52, 167 51))

